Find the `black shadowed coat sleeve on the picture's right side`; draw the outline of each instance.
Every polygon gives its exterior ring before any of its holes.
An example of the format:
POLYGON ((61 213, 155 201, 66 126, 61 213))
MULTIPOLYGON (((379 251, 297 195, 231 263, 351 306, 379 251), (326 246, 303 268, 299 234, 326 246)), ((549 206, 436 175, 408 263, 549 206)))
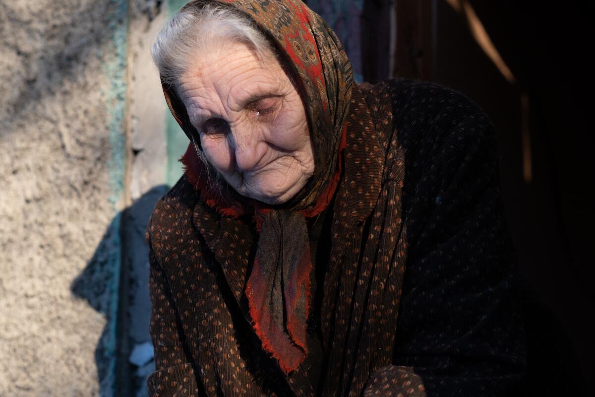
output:
POLYGON ((437 124, 403 132, 408 257, 393 364, 411 367, 428 396, 510 395, 524 329, 496 133, 473 106, 437 124))

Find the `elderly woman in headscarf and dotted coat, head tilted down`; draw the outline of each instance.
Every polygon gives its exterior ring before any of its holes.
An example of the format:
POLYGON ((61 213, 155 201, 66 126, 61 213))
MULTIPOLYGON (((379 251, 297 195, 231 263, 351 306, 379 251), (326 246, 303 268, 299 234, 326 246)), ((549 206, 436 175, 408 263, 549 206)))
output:
POLYGON ((494 127, 353 83, 300 0, 191 1, 152 49, 189 138, 155 206, 155 396, 507 395, 524 371, 494 127))

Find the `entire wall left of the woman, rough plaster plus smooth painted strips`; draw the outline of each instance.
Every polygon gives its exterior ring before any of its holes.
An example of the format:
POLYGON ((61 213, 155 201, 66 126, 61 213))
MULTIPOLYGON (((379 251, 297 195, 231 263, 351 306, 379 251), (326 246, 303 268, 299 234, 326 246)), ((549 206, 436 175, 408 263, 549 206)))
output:
POLYGON ((144 232, 187 145, 149 48, 184 3, 0 1, 0 396, 146 395, 144 232))

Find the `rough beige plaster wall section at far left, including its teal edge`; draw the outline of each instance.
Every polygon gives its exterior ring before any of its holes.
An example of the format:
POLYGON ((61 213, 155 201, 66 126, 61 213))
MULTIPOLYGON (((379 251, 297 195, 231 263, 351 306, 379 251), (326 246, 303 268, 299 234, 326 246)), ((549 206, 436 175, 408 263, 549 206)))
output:
POLYGON ((0 2, 0 396, 114 389, 127 23, 0 2))

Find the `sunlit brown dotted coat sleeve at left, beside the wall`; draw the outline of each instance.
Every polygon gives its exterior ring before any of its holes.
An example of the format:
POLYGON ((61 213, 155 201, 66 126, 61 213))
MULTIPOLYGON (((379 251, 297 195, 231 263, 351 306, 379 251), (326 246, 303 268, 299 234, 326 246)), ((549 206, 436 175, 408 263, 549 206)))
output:
MULTIPOLYGON (((157 211, 158 206, 159 203, 157 211)), ((198 389, 192 361, 187 358, 176 304, 158 259, 162 245, 159 229, 153 226, 154 217, 155 213, 145 233, 149 244, 149 334, 155 349, 155 371, 147 379, 149 396, 196 396, 198 389)))

